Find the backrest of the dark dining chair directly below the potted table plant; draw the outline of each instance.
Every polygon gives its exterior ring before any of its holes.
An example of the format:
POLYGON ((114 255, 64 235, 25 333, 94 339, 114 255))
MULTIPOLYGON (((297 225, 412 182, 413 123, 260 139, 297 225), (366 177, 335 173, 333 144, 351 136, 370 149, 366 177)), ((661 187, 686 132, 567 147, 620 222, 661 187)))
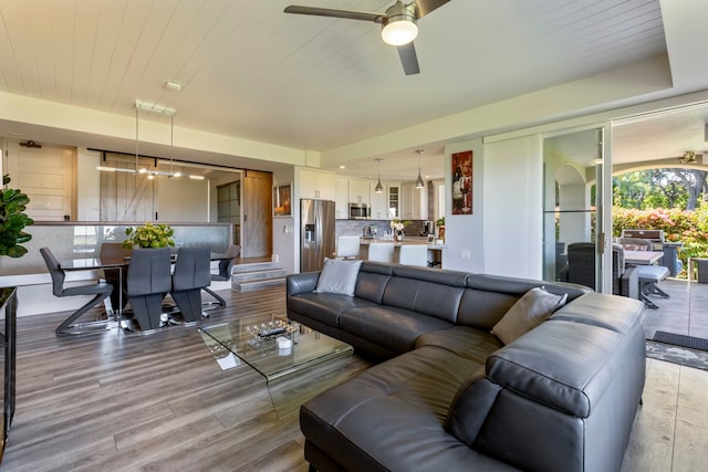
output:
POLYGON ((128 296, 167 293, 170 289, 169 248, 133 250, 127 276, 128 296))

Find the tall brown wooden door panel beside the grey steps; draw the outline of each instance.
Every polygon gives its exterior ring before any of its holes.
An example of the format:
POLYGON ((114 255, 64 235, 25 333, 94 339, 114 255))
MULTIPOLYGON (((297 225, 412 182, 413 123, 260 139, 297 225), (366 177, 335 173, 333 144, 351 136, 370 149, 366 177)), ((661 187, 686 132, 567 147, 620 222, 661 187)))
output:
POLYGON ((242 258, 268 258, 273 251, 273 176, 247 170, 243 174, 242 258))

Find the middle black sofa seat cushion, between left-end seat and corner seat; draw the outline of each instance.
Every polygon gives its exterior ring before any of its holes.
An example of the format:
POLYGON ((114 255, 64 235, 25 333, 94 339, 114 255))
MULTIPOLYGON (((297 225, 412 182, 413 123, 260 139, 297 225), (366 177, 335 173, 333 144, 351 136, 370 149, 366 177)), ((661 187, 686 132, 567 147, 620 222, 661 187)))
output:
POLYGON ((414 348, 424 333, 451 327, 433 316, 391 306, 362 306, 340 315, 340 328, 397 353, 414 348))

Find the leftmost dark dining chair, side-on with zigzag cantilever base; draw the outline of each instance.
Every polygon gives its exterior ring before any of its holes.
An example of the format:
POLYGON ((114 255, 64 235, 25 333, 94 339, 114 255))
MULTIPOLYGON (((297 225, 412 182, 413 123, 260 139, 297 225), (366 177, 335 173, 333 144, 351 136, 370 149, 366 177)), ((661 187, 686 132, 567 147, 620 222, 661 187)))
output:
POLYGON ((42 258, 44 258, 44 262, 46 263, 46 268, 49 269, 49 273, 52 277, 52 293, 54 294, 54 296, 64 297, 75 295, 93 295, 93 298, 91 298, 91 301, 72 313, 71 316, 69 316, 61 325, 59 325, 59 327, 55 329, 56 336, 101 333, 101 331, 97 331, 95 328, 88 329, 85 325, 73 325, 73 323, 83 314, 96 306, 98 303, 106 300, 113 291, 113 285, 105 282, 98 282, 87 285, 69 287, 64 286, 66 273, 62 270, 52 251, 49 248, 41 248, 40 253, 42 254, 42 258))

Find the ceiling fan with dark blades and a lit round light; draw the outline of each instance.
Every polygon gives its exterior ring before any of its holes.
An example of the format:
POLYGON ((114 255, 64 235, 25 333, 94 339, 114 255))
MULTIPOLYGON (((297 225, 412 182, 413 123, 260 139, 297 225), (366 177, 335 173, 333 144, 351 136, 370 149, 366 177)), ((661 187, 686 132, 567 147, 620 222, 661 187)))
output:
POLYGON ((420 72, 416 49, 413 45, 413 40, 415 40, 418 34, 416 22, 449 1, 450 0, 415 0, 410 3, 404 3, 402 0, 396 0, 396 3, 388 7, 386 13, 368 13, 365 11, 333 10, 330 8, 300 6, 287 7, 284 12, 381 23, 382 39, 387 44, 397 46, 404 72, 406 75, 413 75, 420 72))

